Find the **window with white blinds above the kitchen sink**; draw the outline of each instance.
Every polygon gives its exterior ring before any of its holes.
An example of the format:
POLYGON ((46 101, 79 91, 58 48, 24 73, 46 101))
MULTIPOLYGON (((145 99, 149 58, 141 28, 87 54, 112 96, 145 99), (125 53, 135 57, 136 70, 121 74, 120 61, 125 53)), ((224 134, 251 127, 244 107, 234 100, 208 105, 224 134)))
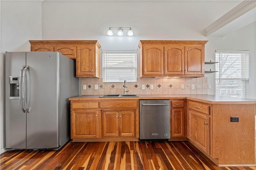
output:
POLYGON ((103 82, 136 82, 137 51, 102 51, 103 82))

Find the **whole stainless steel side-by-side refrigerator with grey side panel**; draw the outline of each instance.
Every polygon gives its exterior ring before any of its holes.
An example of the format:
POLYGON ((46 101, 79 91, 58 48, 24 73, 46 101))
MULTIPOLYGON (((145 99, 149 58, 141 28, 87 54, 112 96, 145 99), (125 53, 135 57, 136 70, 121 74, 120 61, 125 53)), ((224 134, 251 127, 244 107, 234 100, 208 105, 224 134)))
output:
POLYGON ((75 61, 58 52, 6 52, 6 148, 59 149, 78 96, 75 61))

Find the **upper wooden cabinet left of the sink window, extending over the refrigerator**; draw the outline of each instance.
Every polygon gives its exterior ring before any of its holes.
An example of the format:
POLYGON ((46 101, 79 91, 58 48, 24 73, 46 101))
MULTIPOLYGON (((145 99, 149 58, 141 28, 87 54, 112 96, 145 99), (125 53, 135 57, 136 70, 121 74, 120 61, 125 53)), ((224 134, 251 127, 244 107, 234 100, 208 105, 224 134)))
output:
POLYGON ((97 40, 30 40, 31 51, 58 51, 76 59, 76 77, 100 76, 100 43, 97 40))

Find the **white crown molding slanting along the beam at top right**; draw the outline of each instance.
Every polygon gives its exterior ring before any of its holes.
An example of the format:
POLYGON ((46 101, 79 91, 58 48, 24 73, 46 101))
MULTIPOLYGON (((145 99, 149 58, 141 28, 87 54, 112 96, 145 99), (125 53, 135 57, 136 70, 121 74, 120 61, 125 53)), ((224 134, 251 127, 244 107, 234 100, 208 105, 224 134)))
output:
POLYGON ((232 10, 227 12, 225 15, 220 17, 218 20, 210 24, 210 26, 204 29, 205 36, 209 36, 210 34, 216 32, 223 26, 227 25, 228 23, 232 22, 233 20, 237 19, 238 17, 242 16, 246 12, 252 10, 256 7, 256 0, 244 0, 232 10))

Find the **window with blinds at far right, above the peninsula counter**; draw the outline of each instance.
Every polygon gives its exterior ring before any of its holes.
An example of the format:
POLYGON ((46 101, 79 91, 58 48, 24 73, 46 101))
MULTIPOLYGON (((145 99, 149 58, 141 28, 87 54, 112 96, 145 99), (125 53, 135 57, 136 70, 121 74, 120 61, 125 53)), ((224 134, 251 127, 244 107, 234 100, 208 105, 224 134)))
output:
POLYGON ((249 97, 249 51, 216 51, 216 95, 249 97))

